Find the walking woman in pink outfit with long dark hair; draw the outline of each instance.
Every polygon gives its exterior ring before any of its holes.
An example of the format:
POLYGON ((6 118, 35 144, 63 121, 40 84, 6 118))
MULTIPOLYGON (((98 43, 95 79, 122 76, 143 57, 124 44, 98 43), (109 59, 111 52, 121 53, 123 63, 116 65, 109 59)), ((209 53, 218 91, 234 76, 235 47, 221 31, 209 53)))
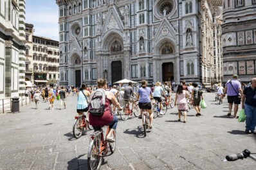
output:
POLYGON ((178 85, 174 105, 178 106, 178 121, 181 121, 181 112, 184 114, 183 123, 187 121, 188 104, 186 96, 189 96, 188 91, 182 85, 178 85))

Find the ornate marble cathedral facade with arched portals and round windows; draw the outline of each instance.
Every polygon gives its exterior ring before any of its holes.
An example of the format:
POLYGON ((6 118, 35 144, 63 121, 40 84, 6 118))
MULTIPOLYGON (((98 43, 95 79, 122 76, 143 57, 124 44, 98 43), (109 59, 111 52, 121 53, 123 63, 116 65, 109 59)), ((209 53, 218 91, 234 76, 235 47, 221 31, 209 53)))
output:
POLYGON ((221 0, 56 2, 61 85, 221 81, 221 0))

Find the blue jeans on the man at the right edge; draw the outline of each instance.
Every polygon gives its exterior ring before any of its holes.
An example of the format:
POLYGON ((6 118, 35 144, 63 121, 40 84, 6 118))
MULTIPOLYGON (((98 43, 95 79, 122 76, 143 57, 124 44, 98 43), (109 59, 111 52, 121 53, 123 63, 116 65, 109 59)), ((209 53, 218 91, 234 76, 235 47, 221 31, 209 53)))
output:
POLYGON ((244 104, 244 111, 246 114, 246 129, 255 130, 256 126, 256 107, 244 104))

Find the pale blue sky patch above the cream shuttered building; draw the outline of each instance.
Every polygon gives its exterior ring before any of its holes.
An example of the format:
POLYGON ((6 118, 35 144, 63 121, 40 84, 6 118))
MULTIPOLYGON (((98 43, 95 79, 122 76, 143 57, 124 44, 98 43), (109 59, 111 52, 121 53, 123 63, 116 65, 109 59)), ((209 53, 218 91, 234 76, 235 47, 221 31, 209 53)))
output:
POLYGON ((33 24, 34 35, 59 41, 59 6, 55 0, 26 0, 26 23, 33 24))

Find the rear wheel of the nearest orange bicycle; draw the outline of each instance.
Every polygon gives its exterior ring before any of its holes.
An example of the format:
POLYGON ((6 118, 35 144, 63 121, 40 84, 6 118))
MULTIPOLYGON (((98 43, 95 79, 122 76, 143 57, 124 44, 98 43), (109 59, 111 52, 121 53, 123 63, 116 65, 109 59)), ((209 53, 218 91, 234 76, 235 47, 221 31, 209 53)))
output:
POLYGON ((102 155, 100 155, 100 141, 99 139, 92 140, 89 145, 89 151, 87 156, 88 169, 100 169, 100 166, 102 166, 102 160, 102 155))

